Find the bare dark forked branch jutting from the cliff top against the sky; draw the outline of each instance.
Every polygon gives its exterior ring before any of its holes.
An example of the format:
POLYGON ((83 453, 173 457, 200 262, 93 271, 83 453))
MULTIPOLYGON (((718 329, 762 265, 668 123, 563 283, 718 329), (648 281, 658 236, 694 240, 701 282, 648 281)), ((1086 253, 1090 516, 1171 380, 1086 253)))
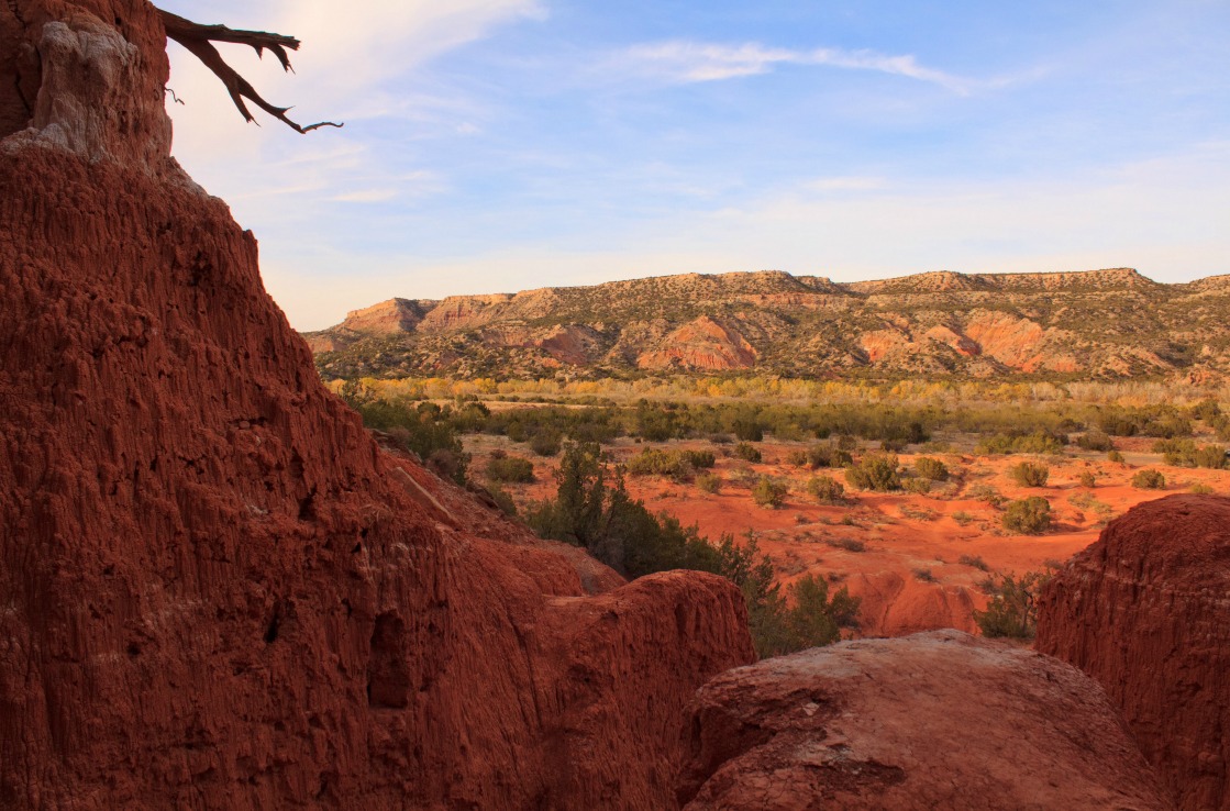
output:
POLYGON ((230 93, 231 101, 235 102, 239 112, 244 114, 245 120, 256 122, 252 113, 247 109, 247 104, 244 103, 246 98, 298 133, 310 133, 321 127, 342 127, 342 124, 335 124, 333 122, 320 122, 319 124, 309 124, 308 127, 300 127, 294 123, 287 118, 287 113, 290 111, 289 107, 276 107, 261 98, 256 88, 240 76, 234 68, 223 61, 221 54, 214 48, 215 42, 232 42, 251 47, 256 50, 257 57, 263 57, 264 50, 269 49, 278 58, 278 61, 282 63, 283 70, 294 72, 294 69, 290 66, 290 57, 287 55, 287 48, 299 50, 299 41, 294 37, 269 33, 267 31, 235 31, 226 26, 203 26, 199 22, 184 20, 170 11, 162 11, 161 9, 157 11, 162 15, 166 36, 187 48, 191 54, 221 80, 223 86, 226 87, 226 92, 230 93))

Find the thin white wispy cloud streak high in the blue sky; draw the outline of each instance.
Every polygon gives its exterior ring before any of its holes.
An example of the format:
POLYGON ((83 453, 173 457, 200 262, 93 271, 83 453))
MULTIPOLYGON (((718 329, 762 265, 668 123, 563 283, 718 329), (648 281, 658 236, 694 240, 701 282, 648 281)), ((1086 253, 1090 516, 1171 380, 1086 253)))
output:
POLYGON ((739 45, 673 39, 669 42, 633 45, 622 54, 622 61, 659 74, 670 81, 702 82, 768 74, 779 65, 815 65, 871 70, 905 76, 967 95, 980 82, 920 65, 909 54, 889 55, 875 50, 814 48, 792 50, 769 48, 750 42, 739 45))

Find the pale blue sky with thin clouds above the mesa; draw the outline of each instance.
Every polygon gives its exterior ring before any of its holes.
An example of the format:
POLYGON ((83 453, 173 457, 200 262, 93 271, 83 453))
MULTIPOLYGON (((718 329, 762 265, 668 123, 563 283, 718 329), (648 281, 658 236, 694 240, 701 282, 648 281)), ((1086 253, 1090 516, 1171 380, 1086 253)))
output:
POLYGON ((175 43, 172 154, 320 329, 675 273, 1230 273, 1225 0, 164 0, 294 34, 175 43))

